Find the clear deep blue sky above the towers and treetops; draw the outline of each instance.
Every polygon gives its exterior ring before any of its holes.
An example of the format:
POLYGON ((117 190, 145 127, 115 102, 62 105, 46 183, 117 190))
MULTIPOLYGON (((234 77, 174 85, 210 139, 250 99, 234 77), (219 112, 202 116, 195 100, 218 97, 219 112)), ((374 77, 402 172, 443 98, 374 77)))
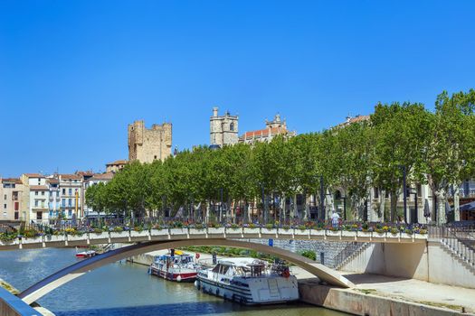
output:
POLYGON ((127 125, 209 143, 277 112, 298 133, 475 88, 475 1, 0 1, 0 175, 103 171, 127 125))

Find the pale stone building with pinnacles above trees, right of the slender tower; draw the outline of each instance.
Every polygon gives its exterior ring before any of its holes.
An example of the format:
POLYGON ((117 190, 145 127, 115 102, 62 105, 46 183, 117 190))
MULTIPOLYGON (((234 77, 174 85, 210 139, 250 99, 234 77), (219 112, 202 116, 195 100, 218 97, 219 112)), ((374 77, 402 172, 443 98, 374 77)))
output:
POLYGON ((254 144, 255 142, 271 142, 272 138, 277 135, 284 137, 293 137, 297 135, 296 132, 287 129, 287 122, 281 120, 280 114, 274 116, 271 121, 265 121, 266 128, 256 131, 246 132, 239 137, 240 143, 254 144))

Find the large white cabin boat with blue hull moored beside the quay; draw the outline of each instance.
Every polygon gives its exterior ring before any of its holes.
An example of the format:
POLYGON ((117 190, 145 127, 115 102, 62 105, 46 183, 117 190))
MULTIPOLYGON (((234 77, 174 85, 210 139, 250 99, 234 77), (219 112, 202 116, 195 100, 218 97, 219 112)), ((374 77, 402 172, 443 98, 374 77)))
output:
POLYGON ((299 286, 289 267, 254 258, 226 258, 214 268, 200 270, 195 286, 204 293, 245 305, 299 300, 299 286))

